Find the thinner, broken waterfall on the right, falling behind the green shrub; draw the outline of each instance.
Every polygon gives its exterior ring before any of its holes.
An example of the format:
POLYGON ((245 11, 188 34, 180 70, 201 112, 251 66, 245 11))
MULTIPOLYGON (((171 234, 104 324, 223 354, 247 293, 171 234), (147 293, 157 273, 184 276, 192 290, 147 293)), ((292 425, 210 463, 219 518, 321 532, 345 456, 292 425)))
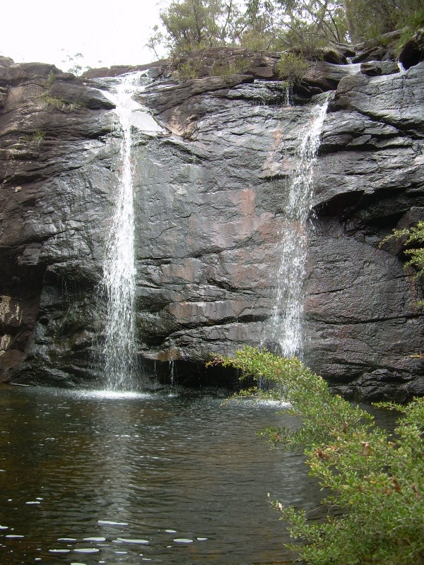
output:
POLYGON ((303 283, 306 274, 307 220, 312 209, 314 165, 328 101, 312 110, 312 120, 297 152, 298 167, 290 177, 281 237, 276 304, 271 338, 284 357, 302 355, 303 283))

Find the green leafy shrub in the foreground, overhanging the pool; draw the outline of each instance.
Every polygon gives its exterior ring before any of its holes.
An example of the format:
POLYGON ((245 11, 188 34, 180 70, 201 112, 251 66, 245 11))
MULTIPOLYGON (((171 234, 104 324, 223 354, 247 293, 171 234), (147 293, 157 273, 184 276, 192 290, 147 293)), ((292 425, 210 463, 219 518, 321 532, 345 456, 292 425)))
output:
POLYGON ((331 395, 324 379, 295 357, 245 347, 213 363, 240 369, 242 379, 271 381, 277 391, 253 387, 239 396, 288 401, 284 412, 302 422, 300 429, 261 432, 276 446, 303 448, 310 475, 329 492, 322 521, 272 503, 291 537, 303 540, 291 546, 302 559, 313 565, 424 564, 423 398, 406 406, 380 404, 402 412, 391 435, 368 412, 331 395))

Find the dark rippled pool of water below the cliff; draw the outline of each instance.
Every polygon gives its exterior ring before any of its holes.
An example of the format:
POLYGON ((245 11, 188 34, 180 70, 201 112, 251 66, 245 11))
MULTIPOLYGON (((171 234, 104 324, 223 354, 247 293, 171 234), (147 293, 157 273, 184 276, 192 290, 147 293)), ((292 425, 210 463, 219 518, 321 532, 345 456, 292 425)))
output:
POLYGON ((1 565, 291 563, 267 493, 319 487, 255 435, 275 405, 222 400, 0 386, 1 565))

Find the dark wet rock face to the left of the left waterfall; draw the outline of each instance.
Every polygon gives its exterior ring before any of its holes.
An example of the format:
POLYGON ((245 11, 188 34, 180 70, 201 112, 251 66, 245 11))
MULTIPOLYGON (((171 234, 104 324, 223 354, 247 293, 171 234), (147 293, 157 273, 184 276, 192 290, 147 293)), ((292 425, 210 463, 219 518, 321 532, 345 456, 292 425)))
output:
POLYGON ((27 381, 66 383, 86 376, 83 335, 98 330, 86 302, 102 277, 119 150, 112 105, 52 65, 0 59, 0 85, 0 379, 28 365, 27 381))

